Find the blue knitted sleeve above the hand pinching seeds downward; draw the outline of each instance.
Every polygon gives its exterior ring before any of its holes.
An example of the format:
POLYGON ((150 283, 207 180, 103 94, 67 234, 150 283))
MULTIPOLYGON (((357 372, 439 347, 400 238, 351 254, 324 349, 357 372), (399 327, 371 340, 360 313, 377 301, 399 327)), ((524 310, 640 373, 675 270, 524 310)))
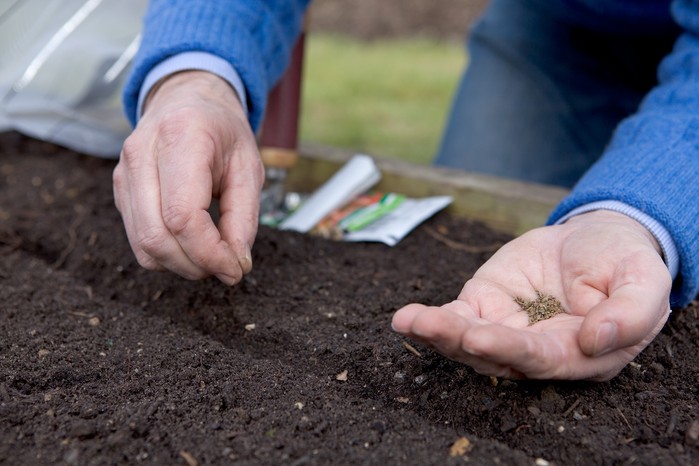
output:
POLYGON ((256 131, 267 94, 289 62, 309 1, 150 0, 123 93, 131 124, 136 124, 138 93, 148 72, 173 55, 201 51, 223 58, 238 72, 256 131))

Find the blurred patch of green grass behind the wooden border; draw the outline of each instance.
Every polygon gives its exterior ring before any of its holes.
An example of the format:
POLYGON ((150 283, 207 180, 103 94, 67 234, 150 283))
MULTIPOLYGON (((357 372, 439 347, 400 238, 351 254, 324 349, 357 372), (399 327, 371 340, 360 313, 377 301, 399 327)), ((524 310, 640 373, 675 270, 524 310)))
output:
POLYGON ((464 66, 461 44, 312 34, 306 47, 302 142, 432 160, 464 66))

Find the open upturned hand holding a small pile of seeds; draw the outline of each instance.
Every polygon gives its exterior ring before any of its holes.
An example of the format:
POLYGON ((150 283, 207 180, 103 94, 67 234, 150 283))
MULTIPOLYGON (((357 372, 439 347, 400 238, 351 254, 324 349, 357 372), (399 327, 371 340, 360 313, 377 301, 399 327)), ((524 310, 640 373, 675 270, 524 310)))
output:
POLYGON ((477 372, 608 380, 662 329, 670 274, 641 224, 594 211, 503 246, 441 307, 409 304, 393 328, 477 372), (515 297, 558 298, 565 313, 529 325, 515 297))

